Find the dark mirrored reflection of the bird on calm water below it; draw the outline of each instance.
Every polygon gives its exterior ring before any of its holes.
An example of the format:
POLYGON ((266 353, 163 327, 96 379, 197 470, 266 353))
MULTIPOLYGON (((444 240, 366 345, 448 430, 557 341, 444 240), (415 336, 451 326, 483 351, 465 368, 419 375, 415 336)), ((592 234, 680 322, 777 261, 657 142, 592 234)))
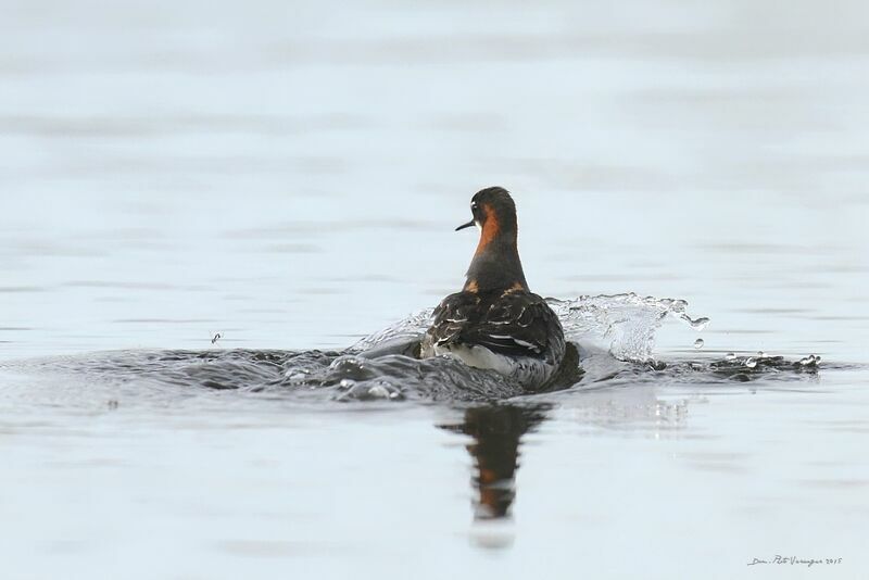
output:
POLYGON ((465 409, 461 423, 440 427, 469 436, 475 461, 475 520, 508 518, 516 496, 521 438, 546 418, 550 405, 489 405, 465 409))

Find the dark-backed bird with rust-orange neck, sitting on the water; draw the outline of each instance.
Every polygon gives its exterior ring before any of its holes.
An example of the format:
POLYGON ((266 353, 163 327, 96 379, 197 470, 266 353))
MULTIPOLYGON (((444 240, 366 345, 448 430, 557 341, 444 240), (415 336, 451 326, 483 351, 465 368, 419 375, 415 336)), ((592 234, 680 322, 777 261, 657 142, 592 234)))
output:
POLYGON ((516 204, 503 187, 478 191, 473 218, 480 239, 461 292, 444 298, 423 337, 420 357, 449 356, 493 369, 524 388, 542 388, 565 358, 558 316, 528 288, 517 244, 516 204))

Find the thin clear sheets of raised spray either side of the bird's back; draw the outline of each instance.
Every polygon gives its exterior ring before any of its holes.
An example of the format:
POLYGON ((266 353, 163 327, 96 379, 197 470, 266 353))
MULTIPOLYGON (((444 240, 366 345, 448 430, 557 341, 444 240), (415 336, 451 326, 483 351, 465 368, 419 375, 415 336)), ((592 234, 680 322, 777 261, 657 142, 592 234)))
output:
MULTIPOLYGON (((582 295, 572 300, 546 299, 558 315, 569 341, 606 342, 609 353, 620 361, 653 362, 655 331, 668 317, 703 330, 706 317, 692 318, 688 302, 669 298, 627 294, 582 295)), ((350 350, 363 352, 380 344, 420 338, 431 325, 433 308, 426 308, 360 340, 350 350)))

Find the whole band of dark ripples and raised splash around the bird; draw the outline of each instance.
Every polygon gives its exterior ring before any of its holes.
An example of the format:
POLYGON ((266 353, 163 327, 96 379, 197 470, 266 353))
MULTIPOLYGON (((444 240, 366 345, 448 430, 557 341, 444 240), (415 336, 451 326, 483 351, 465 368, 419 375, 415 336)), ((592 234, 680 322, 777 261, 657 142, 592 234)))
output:
MULTIPOLYGON (((799 361, 782 356, 728 353, 721 361, 655 361, 655 331, 672 317, 692 329, 708 323, 692 318, 683 300, 655 299, 638 294, 550 299, 558 314, 574 360, 565 366, 579 373, 561 377, 536 398, 556 392, 596 390, 640 383, 687 382, 721 384, 732 381, 794 380, 814 376, 820 357, 799 361), (600 348, 594 341, 603 340, 600 348), (638 364, 639 363, 639 364, 638 364)), ((78 376, 88 388, 104 383, 111 398, 135 398, 141 393, 164 404, 166 393, 176 401, 187 396, 186 388, 212 391, 235 390, 289 396, 294 402, 375 401, 503 401, 530 394, 520 384, 493 370, 471 368, 449 357, 418 360, 413 346, 431 321, 432 310, 420 311, 342 351, 125 351, 85 356, 34 361, 30 367, 64 374, 63 384, 78 376), (147 384, 149 389, 142 389, 147 384)), ((52 379, 52 384, 56 382, 52 379)), ((52 393, 56 394, 56 390, 52 393)), ((125 399, 129 400, 129 399, 125 399)))

